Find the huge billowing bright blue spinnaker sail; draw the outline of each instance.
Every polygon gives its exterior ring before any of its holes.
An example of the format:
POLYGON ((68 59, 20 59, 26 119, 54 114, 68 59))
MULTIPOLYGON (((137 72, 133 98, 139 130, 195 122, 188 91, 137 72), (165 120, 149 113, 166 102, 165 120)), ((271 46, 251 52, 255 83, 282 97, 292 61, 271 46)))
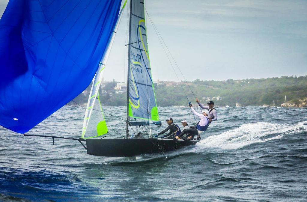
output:
POLYGON ((0 20, 0 125, 25 133, 90 83, 121 0, 10 0, 0 20))

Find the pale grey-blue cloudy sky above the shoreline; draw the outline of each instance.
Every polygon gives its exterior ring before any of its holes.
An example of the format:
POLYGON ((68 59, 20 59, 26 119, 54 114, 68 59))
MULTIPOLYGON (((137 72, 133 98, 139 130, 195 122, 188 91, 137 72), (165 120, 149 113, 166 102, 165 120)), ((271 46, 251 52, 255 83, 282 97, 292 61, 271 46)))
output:
MULTIPOLYGON (((7 2, 0 0, 0 16, 7 2)), ((107 81, 126 81, 128 8, 107 61, 107 81)), ((146 16, 153 80, 307 75, 306 0, 147 0, 145 8, 183 74, 172 62, 177 78, 146 16)))

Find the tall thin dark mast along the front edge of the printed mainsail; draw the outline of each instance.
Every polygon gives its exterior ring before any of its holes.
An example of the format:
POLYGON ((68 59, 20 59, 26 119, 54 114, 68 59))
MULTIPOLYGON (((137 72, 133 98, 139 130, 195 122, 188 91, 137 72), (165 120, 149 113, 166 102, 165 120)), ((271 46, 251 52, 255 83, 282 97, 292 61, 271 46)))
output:
POLYGON ((128 41, 128 71, 127 71, 127 120, 126 120, 126 138, 129 138, 129 74, 130 74, 130 33, 131 33, 131 10, 132 1, 130 0, 129 10, 129 41, 128 41))

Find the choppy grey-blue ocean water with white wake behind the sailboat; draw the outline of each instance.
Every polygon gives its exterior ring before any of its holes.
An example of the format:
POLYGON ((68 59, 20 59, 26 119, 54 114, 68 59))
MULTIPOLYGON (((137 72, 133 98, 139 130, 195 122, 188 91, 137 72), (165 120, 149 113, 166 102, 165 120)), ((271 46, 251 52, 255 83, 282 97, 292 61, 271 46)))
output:
MULTIPOLYGON (((125 107, 104 111, 125 118, 125 107)), ((217 111, 196 146, 135 158, 91 156, 75 140, 53 146, 0 128, 0 201, 307 201, 307 109, 217 111)), ((195 122, 188 107, 159 114, 195 122)), ((27 134, 79 138, 83 116, 64 106, 27 134)), ((105 118, 125 134, 124 121, 105 118)), ((121 137, 109 130, 106 138, 121 137)))

